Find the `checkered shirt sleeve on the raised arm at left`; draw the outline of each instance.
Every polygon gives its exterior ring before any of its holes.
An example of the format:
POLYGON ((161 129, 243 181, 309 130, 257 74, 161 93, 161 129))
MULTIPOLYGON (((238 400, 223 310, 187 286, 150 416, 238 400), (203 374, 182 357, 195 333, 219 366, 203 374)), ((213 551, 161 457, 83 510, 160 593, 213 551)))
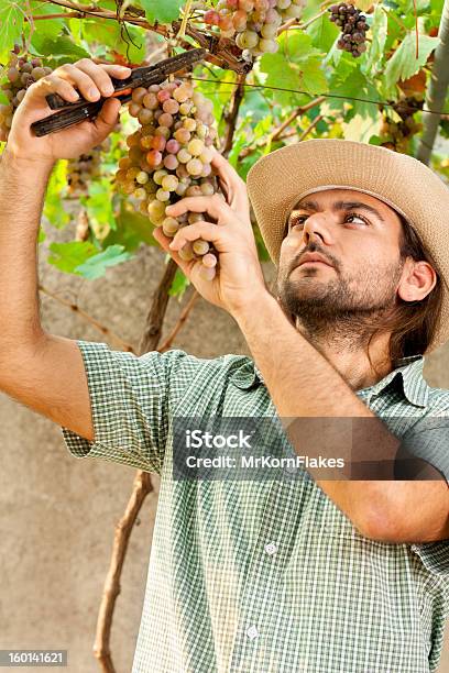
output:
POLYGON ((99 457, 161 474, 168 416, 200 361, 174 349, 136 356, 105 343, 77 341, 90 396, 94 441, 62 427, 77 459, 99 457))

